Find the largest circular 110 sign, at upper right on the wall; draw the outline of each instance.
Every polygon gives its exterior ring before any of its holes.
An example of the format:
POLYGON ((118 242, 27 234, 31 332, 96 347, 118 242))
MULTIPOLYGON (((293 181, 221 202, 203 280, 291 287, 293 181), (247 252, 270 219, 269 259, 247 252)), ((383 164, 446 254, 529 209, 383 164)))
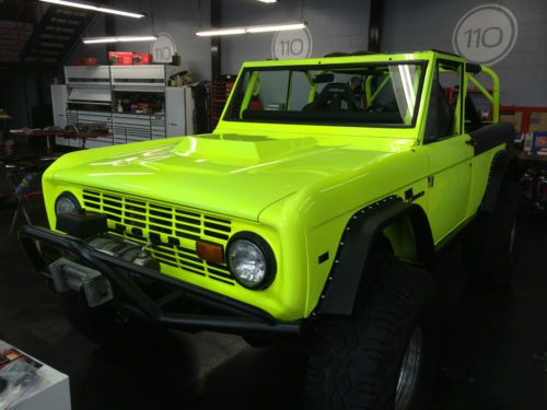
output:
POLYGON ((482 4, 469 10, 456 24, 452 43, 456 54, 480 65, 505 58, 516 42, 514 14, 500 4, 482 4))

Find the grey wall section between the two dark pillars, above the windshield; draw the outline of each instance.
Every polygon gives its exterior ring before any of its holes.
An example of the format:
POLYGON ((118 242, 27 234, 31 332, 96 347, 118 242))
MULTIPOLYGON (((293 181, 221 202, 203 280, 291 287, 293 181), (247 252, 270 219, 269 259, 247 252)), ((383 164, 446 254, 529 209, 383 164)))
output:
MULTIPOLYGON (((265 4, 256 0, 224 0, 222 25, 246 26, 300 21, 309 23, 313 57, 333 51, 366 49, 369 42, 369 0, 282 0, 265 4)), ((274 33, 222 37, 222 71, 237 73, 243 61, 271 58, 274 33)))

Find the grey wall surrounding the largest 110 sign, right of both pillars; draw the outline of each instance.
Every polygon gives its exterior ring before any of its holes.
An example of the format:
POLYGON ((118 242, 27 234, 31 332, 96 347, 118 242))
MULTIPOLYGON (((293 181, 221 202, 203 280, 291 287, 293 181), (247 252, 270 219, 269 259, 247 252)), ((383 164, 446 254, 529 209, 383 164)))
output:
POLYGON ((438 48, 454 52, 452 34, 458 20, 474 7, 486 3, 507 7, 519 23, 511 54, 492 66, 501 81, 501 102, 547 106, 546 0, 386 0, 382 50, 438 48))

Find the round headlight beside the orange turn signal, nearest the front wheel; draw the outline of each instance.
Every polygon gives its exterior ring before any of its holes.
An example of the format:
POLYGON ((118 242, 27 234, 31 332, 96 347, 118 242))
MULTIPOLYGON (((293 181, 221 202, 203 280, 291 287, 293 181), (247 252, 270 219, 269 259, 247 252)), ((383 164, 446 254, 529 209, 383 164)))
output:
POLYGON ((238 235, 228 246, 228 266, 235 280, 248 289, 265 289, 274 280, 276 261, 269 245, 257 235, 238 235))

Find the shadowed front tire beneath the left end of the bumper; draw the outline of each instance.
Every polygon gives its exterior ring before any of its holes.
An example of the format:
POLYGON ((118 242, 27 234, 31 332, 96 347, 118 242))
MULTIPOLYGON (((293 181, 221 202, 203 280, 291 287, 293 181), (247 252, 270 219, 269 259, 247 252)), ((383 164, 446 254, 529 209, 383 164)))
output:
POLYGON ((109 344, 127 340, 137 329, 135 320, 119 316, 108 305, 90 307, 82 292, 68 291, 60 296, 68 321, 95 343, 109 344))

